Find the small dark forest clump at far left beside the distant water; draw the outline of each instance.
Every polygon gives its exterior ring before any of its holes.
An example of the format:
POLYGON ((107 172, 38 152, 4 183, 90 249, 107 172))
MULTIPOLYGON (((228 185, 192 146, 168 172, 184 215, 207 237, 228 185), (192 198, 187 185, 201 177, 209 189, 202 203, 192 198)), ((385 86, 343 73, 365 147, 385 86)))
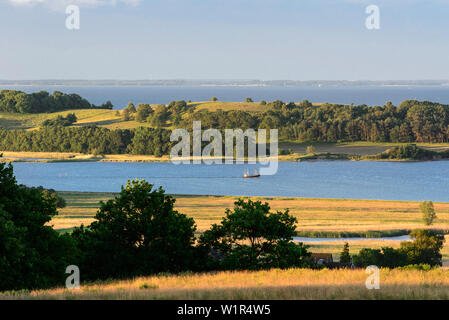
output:
POLYGON ((77 94, 39 91, 27 94, 17 90, 0 90, 0 111, 12 113, 43 113, 72 109, 112 109, 110 101, 95 106, 77 94))

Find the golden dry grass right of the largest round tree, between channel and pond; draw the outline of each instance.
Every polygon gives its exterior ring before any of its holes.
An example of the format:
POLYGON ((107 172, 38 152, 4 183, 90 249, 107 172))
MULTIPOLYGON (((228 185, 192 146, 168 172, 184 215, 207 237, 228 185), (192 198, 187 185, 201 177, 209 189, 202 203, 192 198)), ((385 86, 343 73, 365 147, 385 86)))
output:
MULTIPOLYGON (((238 197, 177 197, 179 211, 195 218, 200 230, 218 222, 226 208, 238 197)), ((290 209, 299 221, 298 230, 367 231, 424 227, 419 202, 377 200, 334 200, 306 198, 266 198, 273 210, 290 209)), ((438 221, 434 228, 449 225, 449 203, 435 203, 438 221)))

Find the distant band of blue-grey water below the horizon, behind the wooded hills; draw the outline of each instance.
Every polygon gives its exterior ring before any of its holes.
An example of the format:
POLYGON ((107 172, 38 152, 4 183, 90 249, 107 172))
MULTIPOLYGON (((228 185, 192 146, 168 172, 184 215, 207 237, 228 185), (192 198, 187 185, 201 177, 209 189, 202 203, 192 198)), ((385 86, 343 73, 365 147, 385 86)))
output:
POLYGON ((243 101, 246 97, 254 101, 276 99, 312 102, 333 102, 344 104, 383 105, 386 101, 399 104, 403 100, 430 100, 449 104, 447 86, 1 86, 0 89, 16 89, 25 92, 54 90, 65 93, 78 93, 94 104, 110 100, 116 109, 124 108, 128 102, 167 104, 172 100, 206 101, 216 96, 221 101, 243 101))

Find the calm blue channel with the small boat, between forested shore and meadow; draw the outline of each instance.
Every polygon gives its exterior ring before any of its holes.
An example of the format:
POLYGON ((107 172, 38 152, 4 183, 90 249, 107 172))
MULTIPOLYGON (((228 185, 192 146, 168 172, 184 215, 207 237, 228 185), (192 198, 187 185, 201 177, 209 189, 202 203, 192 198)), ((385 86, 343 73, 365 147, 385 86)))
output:
POLYGON ((65 191, 120 191, 145 178, 172 194, 284 196, 449 202, 449 161, 281 162, 276 175, 243 179, 248 165, 15 163, 19 183, 65 191))

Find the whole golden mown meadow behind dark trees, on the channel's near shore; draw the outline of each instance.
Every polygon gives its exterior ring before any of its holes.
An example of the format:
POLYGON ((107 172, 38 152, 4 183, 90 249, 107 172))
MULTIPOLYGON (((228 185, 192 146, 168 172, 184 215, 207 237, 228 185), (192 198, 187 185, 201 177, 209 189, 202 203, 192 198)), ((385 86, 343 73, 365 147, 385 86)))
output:
MULTIPOLYGON (((69 231, 81 224, 88 225, 99 207, 100 200, 114 197, 114 193, 60 192, 67 207, 60 210, 51 224, 55 229, 69 231)), ((178 211, 194 218, 198 232, 219 223, 226 208, 232 208, 237 197, 230 196, 176 196, 178 211)), ((424 228, 419 202, 378 200, 334 200, 305 198, 256 198, 270 204, 272 210, 290 209, 299 221, 298 231, 334 231, 363 233, 366 231, 410 230, 424 228)), ((432 228, 448 229, 449 203, 434 203, 438 220, 432 228)), ((332 253, 338 260, 344 241, 307 243, 310 251, 332 253)), ((397 248, 399 241, 349 241, 351 254, 362 248, 397 248)), ((443 260, 449 265, 449 237, 443 248, 443 260)))

